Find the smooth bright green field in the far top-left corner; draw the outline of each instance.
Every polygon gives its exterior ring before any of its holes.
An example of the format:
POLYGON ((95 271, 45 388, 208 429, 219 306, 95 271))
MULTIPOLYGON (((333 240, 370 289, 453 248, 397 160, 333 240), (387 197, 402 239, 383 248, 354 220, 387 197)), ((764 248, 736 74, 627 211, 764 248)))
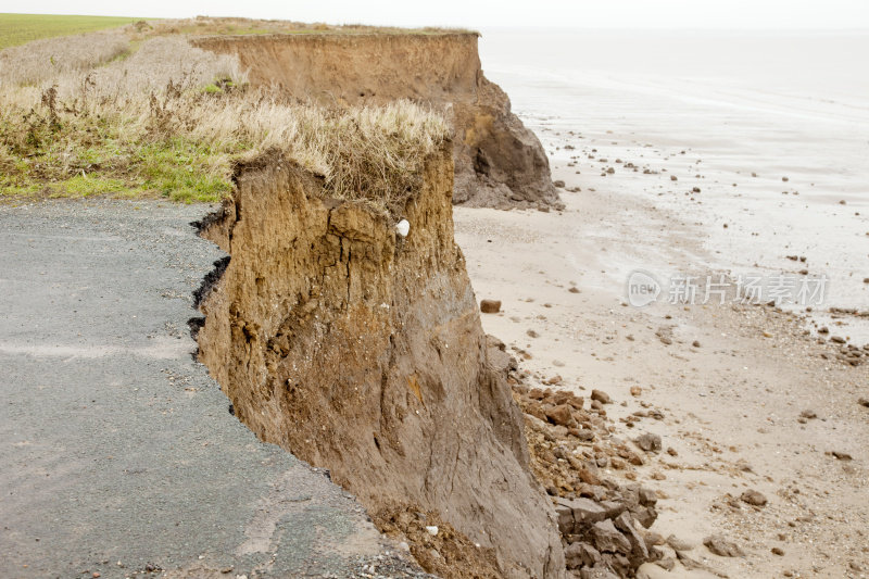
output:
POLYGON ((0 50, 38 40, 131 24, 139 18, 122 16, 59 16, 54 14, 0 13, 0 50))

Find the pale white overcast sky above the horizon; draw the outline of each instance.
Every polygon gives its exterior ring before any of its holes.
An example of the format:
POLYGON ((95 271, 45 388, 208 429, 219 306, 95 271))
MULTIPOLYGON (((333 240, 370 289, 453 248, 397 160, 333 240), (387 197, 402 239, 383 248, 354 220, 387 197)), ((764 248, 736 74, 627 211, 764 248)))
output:
POLYGON ((0 12, 473 28, 869 28, 869 0, 0 0, 0 12))

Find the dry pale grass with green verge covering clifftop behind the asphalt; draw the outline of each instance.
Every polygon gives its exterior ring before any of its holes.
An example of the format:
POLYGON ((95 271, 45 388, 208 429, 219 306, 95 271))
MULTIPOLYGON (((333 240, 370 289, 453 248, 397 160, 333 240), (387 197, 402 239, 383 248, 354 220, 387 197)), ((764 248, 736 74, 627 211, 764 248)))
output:
POLYGON ((53 62, 61 40, 28 45, 36 64, 21 68, 0 53, 10 73, 0 83, 0 193, 216 201, 231 190, 236 161, 278 150, 322 175, 324 194, 395 213, 448 136, 440 116, 407 101, 324 109, 250 89, 234 58, 181 37, 148 39, 124 59, 123 37, 81 38, 53 62))

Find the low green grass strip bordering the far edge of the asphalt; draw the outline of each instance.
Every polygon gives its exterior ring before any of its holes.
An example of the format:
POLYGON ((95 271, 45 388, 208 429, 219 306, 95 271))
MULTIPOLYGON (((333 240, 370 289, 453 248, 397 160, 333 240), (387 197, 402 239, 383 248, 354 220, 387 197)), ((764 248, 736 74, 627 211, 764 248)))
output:
POLYGON ((123 118, 0 116, 0 202, 88 197, 218 202, 243 143, 215 148, 181 137, 124 138, 123 118))

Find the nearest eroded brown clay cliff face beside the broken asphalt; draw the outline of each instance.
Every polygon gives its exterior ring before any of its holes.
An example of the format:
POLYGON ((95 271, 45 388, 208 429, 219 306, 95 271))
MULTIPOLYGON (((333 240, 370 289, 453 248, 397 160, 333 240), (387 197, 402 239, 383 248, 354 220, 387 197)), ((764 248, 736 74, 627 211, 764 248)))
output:
POLYGON ((493 555, 489 575, 559 577, 553 507, 453 240, 449 144, 423 177, 401 238, 286 162, 240 169, 203 230, 231 259, 202 304, 200 360, 239 419, 369 512, 434 511, 493 555))

